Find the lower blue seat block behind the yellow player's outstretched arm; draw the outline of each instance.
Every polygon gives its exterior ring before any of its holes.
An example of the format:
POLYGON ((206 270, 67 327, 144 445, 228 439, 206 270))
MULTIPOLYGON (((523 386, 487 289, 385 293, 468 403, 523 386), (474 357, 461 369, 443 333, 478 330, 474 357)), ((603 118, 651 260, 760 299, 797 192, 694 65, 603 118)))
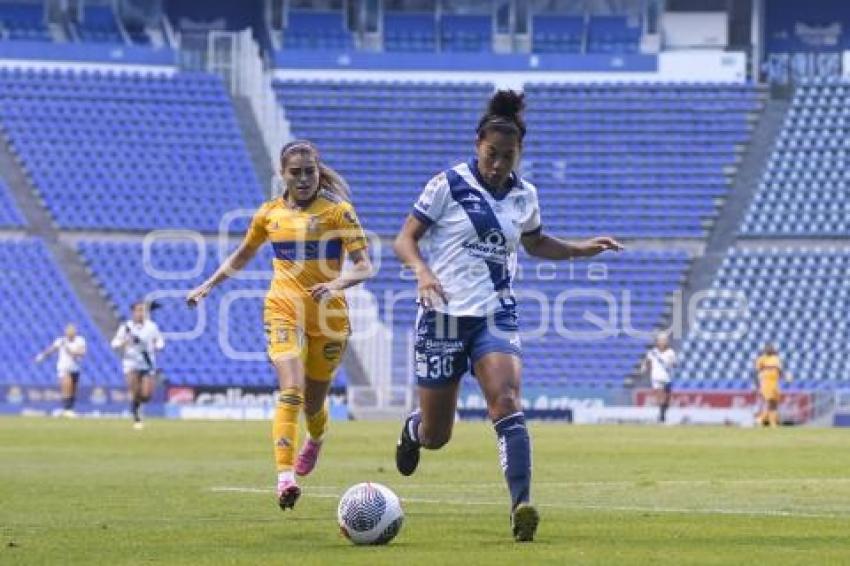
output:
MULTIPOLYGON (((227 281, 198 309, 187 308, 184 298, 189 289, 201 283, 219 265, 221 258, 216 244, 199 251, 188 242, 157 242, 149 249, 147 264, 139 242, 84 241, 78 250, 98 285, 122 312, 139 297, 162 291, 170 292, 171 296, 158 299, 162 308, 154 311, 153 317, 163 329, 171 333, 189 333, 198 323, 199 311, 206 313, 206 323, 196 337, 168 339, 158 362, 169 383, 276 385, 274 371, 265 358, 262 313, 271 274, 270 246, 261 248, 246 267, 246 270, 262 271, 263 276, 227 281), (184 277, 180 273, 191 272, 196 265, 200 266, 201 273, 194 277, 184 277), (128 273, 133 276, 128 277, 128 273), (236 354, 228 355, 228 348, 236 354), (259 359, 240 359, 250 353, 259 359)), ((344 373, 341 373, 335 384, 340 385, 343 379, 344 373)))

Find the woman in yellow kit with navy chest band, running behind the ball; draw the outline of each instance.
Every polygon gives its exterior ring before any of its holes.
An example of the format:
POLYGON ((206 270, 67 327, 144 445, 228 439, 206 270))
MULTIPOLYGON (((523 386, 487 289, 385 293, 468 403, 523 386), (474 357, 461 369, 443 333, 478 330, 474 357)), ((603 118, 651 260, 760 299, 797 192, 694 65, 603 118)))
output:
POLYGON ((342 290, 368 279, 372 264, 348 200, 348 185, 321 162, 312 143, 285 145, 280 173, 283 195, 260 207, 236 251, 186 300, 190 306, 197 304, 242 269, 264 242, 271 242, 274 279, 263 319, 269 359, 280 384, 272 440, 278 503, 281 509, 291 509, 301 495, 295 475, 307 475, 316 465, 328 424, 328 388, 350 333, 342 290), (345 271, 343 252, 353 263, 345 271), (309 437, 296 459, 302 406, 309 437))

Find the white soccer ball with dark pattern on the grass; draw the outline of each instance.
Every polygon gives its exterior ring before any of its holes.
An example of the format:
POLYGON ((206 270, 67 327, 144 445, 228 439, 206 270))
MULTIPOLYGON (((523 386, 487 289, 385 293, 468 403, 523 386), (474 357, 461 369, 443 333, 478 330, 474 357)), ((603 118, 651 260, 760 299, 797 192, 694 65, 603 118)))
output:
POLYGON ((369 482, 348 488, 336 516, 342 534, 354 544, 387 544, 404 522, 398 496, 387 486, 369 482))

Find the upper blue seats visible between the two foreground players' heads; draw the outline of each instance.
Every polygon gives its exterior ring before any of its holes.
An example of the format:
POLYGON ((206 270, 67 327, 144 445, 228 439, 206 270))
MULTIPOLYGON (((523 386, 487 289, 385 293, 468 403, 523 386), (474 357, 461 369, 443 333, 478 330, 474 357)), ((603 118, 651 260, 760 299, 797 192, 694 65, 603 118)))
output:
POLYGON ((295 135, 312 139, 352 185, 366 227, 394 234, 428 179, 466 159, 487 84, 285 81, 295 135))

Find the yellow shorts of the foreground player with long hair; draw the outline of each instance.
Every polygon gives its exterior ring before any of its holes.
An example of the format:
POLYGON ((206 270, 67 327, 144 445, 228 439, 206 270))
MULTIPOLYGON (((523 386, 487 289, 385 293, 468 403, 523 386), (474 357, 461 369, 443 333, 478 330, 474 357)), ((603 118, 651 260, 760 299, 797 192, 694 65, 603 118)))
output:
POLYGON ((301 358, 304 373, 316 381, 333 379, 348 344, 347 333, 311 335, 303 327, 285 319, 266 321, 265 330, 269 359, 301 358))

